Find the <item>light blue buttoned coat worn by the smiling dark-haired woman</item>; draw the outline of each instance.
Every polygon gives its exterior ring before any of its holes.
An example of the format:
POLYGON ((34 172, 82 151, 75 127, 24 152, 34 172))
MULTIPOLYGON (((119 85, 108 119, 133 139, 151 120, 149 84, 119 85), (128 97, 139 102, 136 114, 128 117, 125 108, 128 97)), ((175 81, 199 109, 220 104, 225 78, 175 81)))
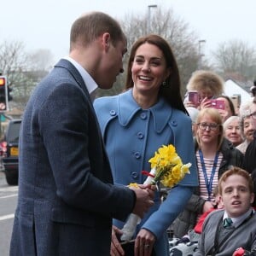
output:
MULTIPOLYGON (((138 227, 148 229, 156 236, 157 255, 168 255, 165 254, 165 231, 182 211, 192 188, 197 185, 191 119, 182 111, 170 107, 164 99, 160 99, 152 108, 142 109, 133 99, 132 90, 119 96, 98 98, 94 107, 114 183, 143 183, 146 177, 141 171, 150 171, 148 160, 158 148, 170 143, 176 147, 184 164, 192 164, 190 174, 171 190, 161 207, 160 197, 156 196, 154 207, 138 227)), ((114 221, 114 224, 121 228, 124 223, 114 221)))

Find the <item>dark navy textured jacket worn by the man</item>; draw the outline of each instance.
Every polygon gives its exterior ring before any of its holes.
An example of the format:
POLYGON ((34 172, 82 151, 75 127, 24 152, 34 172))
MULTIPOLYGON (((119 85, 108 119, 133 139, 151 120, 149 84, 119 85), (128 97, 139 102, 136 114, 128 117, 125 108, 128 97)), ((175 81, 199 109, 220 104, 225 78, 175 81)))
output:
POLYGON ((109 255, 112 218, 127 218, 135 195, 113 186, 89 93, 69 61, 27 103, 19 157, 10 255, 109 255))

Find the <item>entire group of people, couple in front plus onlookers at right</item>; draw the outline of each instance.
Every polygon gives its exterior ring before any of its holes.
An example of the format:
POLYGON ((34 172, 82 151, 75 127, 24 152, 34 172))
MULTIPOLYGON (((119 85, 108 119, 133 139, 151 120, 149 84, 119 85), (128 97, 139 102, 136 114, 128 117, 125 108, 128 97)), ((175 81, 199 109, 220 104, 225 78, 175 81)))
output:
POLYGON ((224 80, 199 70, 183 97, 172 45, 150 34, 131 47, 125 91, 95 99, 124 72, 126 44, 109 15, 82 15, 69 55, 33 91, 20 129, 10 255, 253 252, 256 96, 238 111, 224 80), (144 185, 148 160, 169 144, 191 164, 189 174, 172 189, 144 185), (141 221, 122 241, 131 213, 141 221))

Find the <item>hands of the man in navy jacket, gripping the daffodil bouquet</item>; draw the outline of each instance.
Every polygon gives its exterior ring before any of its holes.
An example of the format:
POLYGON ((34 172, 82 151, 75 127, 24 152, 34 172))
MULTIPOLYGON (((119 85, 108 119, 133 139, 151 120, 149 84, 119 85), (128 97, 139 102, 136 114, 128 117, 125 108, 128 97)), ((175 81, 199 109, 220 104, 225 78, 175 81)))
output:
POLYGON ((137 187, 130 187, 130 189, 135 192, 137 197, 132 213, 143 218, 148 209, 154 205, 154 191, 156 187, 154 185, 138 184, 137 187))

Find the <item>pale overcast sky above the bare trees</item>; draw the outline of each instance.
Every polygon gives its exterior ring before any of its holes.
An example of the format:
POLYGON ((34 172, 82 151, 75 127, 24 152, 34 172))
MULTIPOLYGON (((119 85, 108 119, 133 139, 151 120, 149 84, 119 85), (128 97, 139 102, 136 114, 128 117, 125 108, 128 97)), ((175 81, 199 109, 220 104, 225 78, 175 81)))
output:
POLYGON ((0 44, 17 40, 27 51, 49 49, 57 61, 68 53, 70 27, 79 15, 100 10, 122 19, 145 15, 150 4, 172 8, 207 41, 206 52, 231 39, 256 46, 255 0, 2 0, 0 44))

